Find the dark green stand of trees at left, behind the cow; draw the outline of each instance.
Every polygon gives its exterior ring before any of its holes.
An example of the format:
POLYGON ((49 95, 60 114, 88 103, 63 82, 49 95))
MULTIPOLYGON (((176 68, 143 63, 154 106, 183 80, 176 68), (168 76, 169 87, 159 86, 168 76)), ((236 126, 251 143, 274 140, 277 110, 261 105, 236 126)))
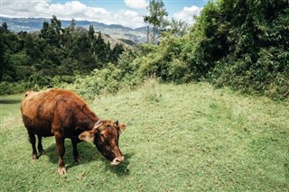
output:
POLYGON ((23 83, 23 88, 71 83, 76 74, 88 75, 93 69, 105 68, 108 62, 117 63, 123 51, 120 44, 111 49, 101 32, 95 35, 93 26, 86 31, 76 28, 72 20, 70 27, 62 29, 61 21, 54 15, 51 23, 43 23, 41 32, 16 34, 3 26, 0 29, 0 94, 5 93, 5 85, 14 82, 23 83))

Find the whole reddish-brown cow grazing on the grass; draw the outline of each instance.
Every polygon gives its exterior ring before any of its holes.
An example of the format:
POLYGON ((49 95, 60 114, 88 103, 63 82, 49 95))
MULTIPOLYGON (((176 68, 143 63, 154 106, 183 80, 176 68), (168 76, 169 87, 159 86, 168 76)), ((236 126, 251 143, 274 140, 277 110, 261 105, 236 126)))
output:
POLYGON ((79 161, 78 142, 94 142, 98 151, 118 165, 125 160, 118 148, 119 133, 126 129, 125 123, 100 120, 89 110, 89 106, 72 91, 49 89, 42 92, 29 91, 21 103, 23 123, 33 147, 33 160, 37 159, 35 147, 38 137, 38 151, 43 154, 42 137, 54 136, 59 155, 59 173, 65 174, 63 155, 64 140, 70 138, 75 161, 79 161))

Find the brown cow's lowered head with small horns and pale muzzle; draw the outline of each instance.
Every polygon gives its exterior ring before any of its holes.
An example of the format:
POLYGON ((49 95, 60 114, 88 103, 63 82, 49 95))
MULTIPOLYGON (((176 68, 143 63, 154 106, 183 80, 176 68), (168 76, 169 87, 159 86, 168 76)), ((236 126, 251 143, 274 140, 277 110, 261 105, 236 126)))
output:
POLYGON ((125 157, 118 148, 119 133, 122 133, 125 129, 125 123, 98 120, 93 130, 79 134, 79 140, 93 142, 98 148, 98 151, 100 151, 112 165, 118 165, 125 160, 125 157))

